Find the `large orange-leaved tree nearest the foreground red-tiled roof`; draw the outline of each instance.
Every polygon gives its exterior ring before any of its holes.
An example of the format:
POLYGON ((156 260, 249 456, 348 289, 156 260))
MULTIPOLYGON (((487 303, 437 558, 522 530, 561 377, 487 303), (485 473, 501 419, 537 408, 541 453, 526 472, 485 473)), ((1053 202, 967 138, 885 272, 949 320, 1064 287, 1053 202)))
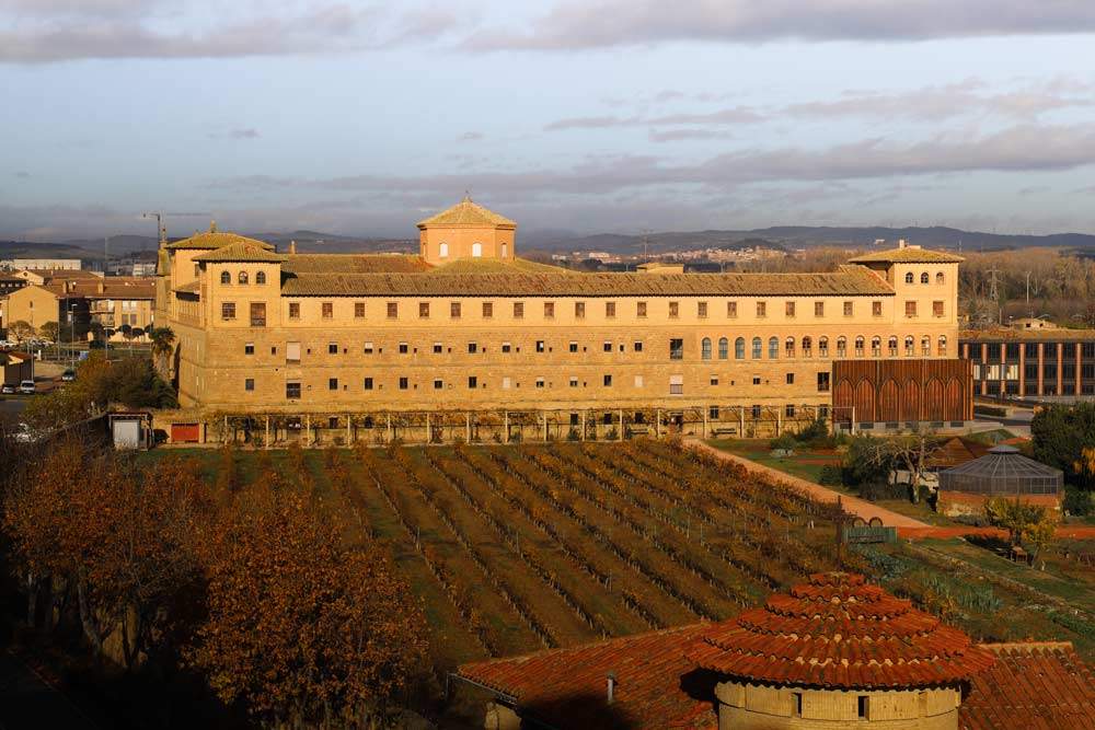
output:
POLYGON ((264 723, 382 722, 420 670, 418 602, 381 549, 343 544, 308 490, 242 493, 201 553, 208 618, 188 658, 264 723))

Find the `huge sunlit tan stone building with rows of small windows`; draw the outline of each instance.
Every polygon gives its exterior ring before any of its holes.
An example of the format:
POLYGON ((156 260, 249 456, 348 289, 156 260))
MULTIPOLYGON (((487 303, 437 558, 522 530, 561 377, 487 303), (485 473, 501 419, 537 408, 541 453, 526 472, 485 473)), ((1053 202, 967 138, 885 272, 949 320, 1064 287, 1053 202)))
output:
POLYGON ((834 361, 957 357, 961 259, 946 253, 823 274, 580 274, 519 258, 516 224, 468 198, 418 228, 417 256, 278 253, 216 227, 166 245, 157 321, 177 336, 180 402, 198 419, 338 429, 525 410, 551 414, 543 432, 688 418, 750 432, 830 408, 834 361))

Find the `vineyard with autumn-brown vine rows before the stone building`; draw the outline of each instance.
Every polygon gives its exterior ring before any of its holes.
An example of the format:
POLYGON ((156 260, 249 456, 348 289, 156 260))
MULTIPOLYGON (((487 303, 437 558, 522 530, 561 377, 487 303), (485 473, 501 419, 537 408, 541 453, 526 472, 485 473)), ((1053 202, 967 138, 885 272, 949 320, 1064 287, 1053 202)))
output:
MULTIPOLYGON (((215 478, 254 478, 243 456, 221 457, 215 478)), ((348 532, 388 545, 424 601, 438 673, 728 617, 840 564, 831 507, 678 443, 256 457, 319 490, 348 532)))

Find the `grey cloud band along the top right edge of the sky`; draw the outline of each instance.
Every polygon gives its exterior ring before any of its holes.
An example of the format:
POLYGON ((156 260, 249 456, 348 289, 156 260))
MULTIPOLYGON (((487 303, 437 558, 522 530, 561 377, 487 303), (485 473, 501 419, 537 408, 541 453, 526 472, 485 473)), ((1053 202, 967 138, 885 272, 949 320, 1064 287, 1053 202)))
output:
POLYGON ((566 0, 468 50, 573 50, 677 40, 926 40, 1095 31, 1088 0, 566 0))

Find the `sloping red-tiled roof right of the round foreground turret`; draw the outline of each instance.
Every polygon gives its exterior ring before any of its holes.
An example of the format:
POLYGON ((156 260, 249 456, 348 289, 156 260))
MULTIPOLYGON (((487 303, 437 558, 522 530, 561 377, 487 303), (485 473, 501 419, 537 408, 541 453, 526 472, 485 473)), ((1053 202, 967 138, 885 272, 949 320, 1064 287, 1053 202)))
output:
POLYGON ((963 730, 1095 730, 1095 672, 1069 642, 983 645, 996 663, 973 679, 963 730))

